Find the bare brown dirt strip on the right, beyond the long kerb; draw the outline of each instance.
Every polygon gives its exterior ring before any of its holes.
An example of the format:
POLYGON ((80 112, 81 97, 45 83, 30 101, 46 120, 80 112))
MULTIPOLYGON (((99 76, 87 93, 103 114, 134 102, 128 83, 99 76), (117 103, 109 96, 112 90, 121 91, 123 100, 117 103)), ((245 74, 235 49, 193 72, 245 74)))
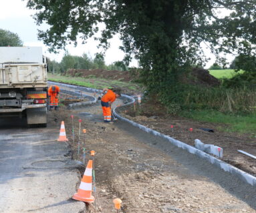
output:
MULTIPOLYGON (((200 122, 188 118, 171 116, 166 114, 164 108, 156 103, 148 106, 142 105, 143 112, 138 116, 134 113, 134 107, 121 108, 119 112, 122 116, 134 120, 144 126, 152 128, 158 132, 171 136, 176 140, 195 146, 195 139, 199 139, 205 144, 215 144, 221 146, 225 162, 240 168, 241 170, 256 175, 256 160, 241 154, 237 150, 243 150, 256 156, 256 138, 249 134, 238 134, 236 132, 222 132, 217 130, 217 126, 227 127, 225 124, 213 124, 200 122), (173 125, 173 129, 171 128, 173 125), (193 128, 191 132, 189 129, 193 128), (213 129, 214 132, 207 132, 201 128, 213 129)), ((137 106, 138 108, 138 106, 137 106)))

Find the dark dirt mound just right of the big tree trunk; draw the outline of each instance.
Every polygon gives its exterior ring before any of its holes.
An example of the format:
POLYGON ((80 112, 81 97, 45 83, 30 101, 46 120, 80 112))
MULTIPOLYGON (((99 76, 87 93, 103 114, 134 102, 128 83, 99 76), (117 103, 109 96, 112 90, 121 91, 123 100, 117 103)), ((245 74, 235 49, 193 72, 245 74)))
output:
POLYGON ((206 69, 193 68, 191 75, 194 77, 192 82, 193 85, 205 85, 215 87, 220 85, 218 79, 213 77, 206 69))

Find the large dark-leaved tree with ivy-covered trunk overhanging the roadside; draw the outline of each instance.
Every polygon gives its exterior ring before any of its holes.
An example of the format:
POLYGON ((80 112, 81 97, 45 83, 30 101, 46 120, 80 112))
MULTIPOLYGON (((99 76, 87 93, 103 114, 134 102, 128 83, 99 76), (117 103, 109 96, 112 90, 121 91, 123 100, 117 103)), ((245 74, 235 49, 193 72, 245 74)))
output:
POLYGON ((217 57, 233 51, 255 55, 255 0, 29 0, 27 6, 37 9, 37 24, 51 26, 39 31, 51 51, 70 41, 76 44, 78 36, 92 37, 98 23, 106 25, 98 38, 102 47, 119 33, 126 61, 130 55, 140 61, 147 91, 158 93, 163 103, 179 103, 184 90, 178 75, 192 64, 203 64, 201 43, 217 57), (227 15, 220 17, 223 9, 227 15))

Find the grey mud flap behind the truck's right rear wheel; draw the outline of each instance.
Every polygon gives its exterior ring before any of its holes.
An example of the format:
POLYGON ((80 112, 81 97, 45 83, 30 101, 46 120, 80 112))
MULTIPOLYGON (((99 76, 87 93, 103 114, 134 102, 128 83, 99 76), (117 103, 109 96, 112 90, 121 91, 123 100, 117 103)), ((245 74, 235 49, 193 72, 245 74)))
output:
POLYGON ((27 108, 27 124, 47 125, 47 108, 27 108))

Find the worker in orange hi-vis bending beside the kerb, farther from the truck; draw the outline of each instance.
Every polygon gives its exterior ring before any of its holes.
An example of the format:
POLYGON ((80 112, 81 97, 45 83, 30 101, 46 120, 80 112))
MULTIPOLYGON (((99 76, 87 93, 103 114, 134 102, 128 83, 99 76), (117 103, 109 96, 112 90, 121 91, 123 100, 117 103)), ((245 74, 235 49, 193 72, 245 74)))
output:
POLYGON ((120 89, 103 89, 103 93, 105 93, 102 97, 102 111, 104 116, 104 122, 111 122, 111 105, 116 98, 121 96, 120 89))

